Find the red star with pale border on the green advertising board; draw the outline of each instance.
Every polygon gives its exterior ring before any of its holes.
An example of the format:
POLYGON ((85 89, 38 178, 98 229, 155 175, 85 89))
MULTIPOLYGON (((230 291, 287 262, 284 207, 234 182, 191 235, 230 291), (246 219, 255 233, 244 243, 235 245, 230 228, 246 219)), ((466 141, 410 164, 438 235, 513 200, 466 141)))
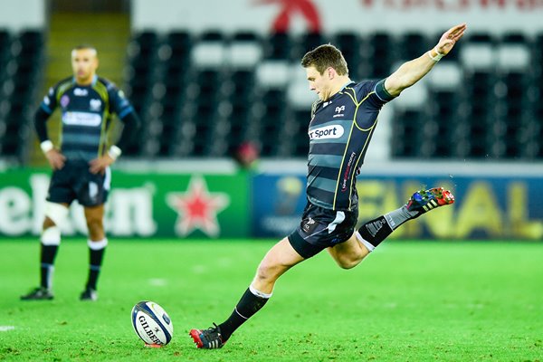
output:
POLYGON ((168 193, 167 205, 177 212, 176 233, 186 236, 196 229, 208 236, 217 237, 221 227, 217 214, 229 204, 230 198, 224 193, 209 193, 205 180, 194 176, 188 183, 185 193, 168 193))

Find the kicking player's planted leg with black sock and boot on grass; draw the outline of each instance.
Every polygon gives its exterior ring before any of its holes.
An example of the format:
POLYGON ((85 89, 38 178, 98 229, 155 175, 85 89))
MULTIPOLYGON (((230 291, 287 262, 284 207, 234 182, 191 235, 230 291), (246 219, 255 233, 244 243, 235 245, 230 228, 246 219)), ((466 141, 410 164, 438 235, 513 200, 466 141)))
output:
POLYGON ((266 253, 258 266, 249 288, 223 323, 209 329, 191 329, 189 335, 197 348, 222 348, 235 329, 261 310, 271 298, 275 281, 292 266, 302 262, 303 257, 296 252, 288 238, 283 238, 266 253))

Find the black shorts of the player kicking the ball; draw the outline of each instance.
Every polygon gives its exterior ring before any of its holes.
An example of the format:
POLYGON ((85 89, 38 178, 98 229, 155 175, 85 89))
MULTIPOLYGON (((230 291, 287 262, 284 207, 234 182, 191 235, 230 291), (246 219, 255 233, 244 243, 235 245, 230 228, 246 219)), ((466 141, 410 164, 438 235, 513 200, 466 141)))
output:
POLYGON ((289 235, 289 242, 296 252, 308 259, 329 246, 348 241, 355 232, 358 209, 334 211, 308 201, 300 226, 289 235))

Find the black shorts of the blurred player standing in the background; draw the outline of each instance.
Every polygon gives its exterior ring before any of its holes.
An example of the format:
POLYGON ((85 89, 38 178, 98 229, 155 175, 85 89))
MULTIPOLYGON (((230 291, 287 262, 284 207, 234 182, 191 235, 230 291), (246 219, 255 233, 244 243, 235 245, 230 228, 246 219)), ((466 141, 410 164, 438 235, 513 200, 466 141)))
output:
POLYGON ((60 170, 54 170, 47 194, 47 201, 71 204, 77 200, 83 206, 98 206, 108 199, 110 167, 104 175, 91 174, 87 161, 66 161, 60 170))

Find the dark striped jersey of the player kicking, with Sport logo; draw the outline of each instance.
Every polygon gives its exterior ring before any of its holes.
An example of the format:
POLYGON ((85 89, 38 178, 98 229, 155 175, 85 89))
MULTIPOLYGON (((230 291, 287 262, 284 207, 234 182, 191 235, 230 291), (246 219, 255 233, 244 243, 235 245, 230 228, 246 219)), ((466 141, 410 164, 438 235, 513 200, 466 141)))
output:
POLYGON ((311 110, 307 195, 332 210, 357 208, 356 176, 364 162, 377 116, 393 100, 385 81, 349 82, 311 110))

